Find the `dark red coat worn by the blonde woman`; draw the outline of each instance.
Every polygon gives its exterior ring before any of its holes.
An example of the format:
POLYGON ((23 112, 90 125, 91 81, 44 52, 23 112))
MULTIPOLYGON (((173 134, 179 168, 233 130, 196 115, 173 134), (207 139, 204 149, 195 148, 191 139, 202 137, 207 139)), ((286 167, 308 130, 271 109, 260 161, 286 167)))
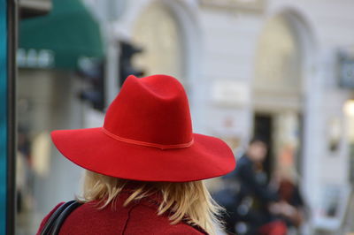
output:
MULTIPOLYGON (((66 218, 59 234, 207 234, 198 227, 192 227, 182 222, 172 225, 167 215, 158 216, 158 201, 156 197, 131 202, 126 207, 123 207, 122 204, 126 201, 128 195, 129 193, 127 192, 120 193, 115 208, 112 208, 112 204, 110 204, 104 209, 97 209, 94 206, 94 202, 81 205, 81 207, 76 208, 72 214, 66 218)), ((62 203, 59 203, 56 208, 62 203)), ((53 208, 50 214, 44 217, 37 235, 40 234, 45 222, 56 208, 53 208)))

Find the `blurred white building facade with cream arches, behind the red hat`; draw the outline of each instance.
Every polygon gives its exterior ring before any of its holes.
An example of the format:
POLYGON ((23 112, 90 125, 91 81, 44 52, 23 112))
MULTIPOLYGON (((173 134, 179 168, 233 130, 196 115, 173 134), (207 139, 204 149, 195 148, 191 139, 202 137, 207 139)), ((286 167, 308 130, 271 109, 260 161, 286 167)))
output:
MULTIPOLYGON (((354 49, 354 2, 118 3, 119 14, 105 24, 109 59, 118 59, 119 40, 141 45, 138 66, 187 87, 195 132, 217 135, 238 152, 266 125, 271 169, 296 172, 312 213, 323 214, 328 197, 346 201, 352 121, 343 107, 352 93, 338 85, 337 55, 354 49)), ((115 80, 117 70, 108 70, 115 80)))

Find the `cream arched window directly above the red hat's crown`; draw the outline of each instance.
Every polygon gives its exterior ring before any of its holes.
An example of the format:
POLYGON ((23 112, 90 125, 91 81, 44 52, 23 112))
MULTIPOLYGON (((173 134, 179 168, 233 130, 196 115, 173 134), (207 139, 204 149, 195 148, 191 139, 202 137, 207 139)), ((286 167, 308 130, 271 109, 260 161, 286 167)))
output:
POLYGON ((143 52, 135 56, 136 67, 146 74, 165 73, 181 80, 185 72, 182 30, 164 4, 151 4, 135 23, 134 42, 143 52))

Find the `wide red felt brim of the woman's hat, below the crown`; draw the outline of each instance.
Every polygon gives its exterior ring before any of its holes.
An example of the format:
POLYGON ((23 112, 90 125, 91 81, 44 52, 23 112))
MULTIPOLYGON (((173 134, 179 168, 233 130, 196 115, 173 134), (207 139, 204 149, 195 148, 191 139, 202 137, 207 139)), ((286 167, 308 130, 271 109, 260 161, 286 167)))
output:
POLYGON ((115 140, 101 127, 51 133, 62 155, 89 170, 116 178, 187 182, 214 178, 235 169, 227 144, 194 133, 189 148, 160 149, 115 140))

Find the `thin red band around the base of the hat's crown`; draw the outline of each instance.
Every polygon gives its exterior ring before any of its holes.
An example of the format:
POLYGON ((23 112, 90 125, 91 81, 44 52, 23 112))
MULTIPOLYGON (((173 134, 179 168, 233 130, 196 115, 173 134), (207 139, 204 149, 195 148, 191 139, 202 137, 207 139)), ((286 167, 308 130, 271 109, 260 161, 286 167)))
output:
POLYGON ((161 149, 189 148, 194 142, 194 139, 192 139, 188 143, 165 145, 165 144, 157 144, 157 143, 150 143, 150 142, 144 142, 144 141, 140 141, 140 140, 131 140, 131 139, 123 138, 123 137, 120 137, 114 133, 107 131, 106 129, 104 129, 104 127, 102 127, 102 131, 103 131, 103 133, 112 137, 115 140, 119 140, 119 141, 126 142, 129 144, 141 145, 141 146, 146 146, 146 147, 161 148, 161 149))

